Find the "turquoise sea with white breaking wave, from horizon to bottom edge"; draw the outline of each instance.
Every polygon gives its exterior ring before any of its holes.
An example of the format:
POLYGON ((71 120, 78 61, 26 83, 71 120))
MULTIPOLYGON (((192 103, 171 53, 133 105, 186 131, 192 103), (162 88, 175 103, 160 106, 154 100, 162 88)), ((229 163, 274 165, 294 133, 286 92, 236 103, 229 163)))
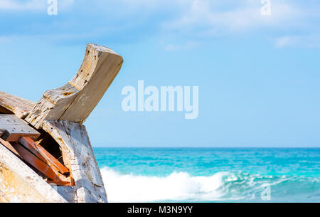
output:
POLYGON ((95 148, 110 202, 320 202, 320 149, 95 148))

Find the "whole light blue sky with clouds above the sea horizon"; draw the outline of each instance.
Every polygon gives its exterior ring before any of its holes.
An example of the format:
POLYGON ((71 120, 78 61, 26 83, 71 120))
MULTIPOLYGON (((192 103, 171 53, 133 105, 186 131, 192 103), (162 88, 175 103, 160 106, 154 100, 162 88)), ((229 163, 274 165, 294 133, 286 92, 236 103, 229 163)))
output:
POLYGON ((87 43, 124 65, 85 122, 95 147, 320 147, 320 3, 0 1, 1 91, 38 101, 77 73, 87 43), (199 116, 124 112, 122 88, 199 86, 199 116))

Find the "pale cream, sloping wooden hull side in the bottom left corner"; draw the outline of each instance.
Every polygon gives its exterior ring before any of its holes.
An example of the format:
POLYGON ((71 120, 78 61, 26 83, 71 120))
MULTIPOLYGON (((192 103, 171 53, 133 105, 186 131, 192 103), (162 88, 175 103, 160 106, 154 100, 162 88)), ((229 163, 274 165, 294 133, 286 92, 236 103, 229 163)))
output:
POLYGON ((0 202, 67 202, 41 176, 2 145, 0 180, 0 202))

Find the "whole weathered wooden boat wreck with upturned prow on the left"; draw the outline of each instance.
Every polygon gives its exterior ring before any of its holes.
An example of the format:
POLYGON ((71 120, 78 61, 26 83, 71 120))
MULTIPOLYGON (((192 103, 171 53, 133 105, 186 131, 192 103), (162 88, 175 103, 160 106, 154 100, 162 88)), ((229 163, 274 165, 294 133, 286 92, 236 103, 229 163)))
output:
POLYGON ((107 202, 82 124, 122 63, 90 43, 75 77, 38 103, 0 92, 0 202, 107 202))

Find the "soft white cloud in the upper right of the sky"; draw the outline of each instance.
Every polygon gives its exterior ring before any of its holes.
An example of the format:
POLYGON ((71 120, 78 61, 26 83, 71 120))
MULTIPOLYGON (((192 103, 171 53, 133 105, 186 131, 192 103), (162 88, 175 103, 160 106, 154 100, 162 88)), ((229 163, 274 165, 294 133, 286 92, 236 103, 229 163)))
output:
MULTIPOLYGON (((248 31, 252 28, 284 26, 302 14, 291 4, 272 1, 272 15, 263 16, 262 4, 258 0, 236 1, 193 0, 183 16, 164 23, 164 28, 204 32, 248 31)), ((292 23, 293 24, 293 23, 292 23)))

